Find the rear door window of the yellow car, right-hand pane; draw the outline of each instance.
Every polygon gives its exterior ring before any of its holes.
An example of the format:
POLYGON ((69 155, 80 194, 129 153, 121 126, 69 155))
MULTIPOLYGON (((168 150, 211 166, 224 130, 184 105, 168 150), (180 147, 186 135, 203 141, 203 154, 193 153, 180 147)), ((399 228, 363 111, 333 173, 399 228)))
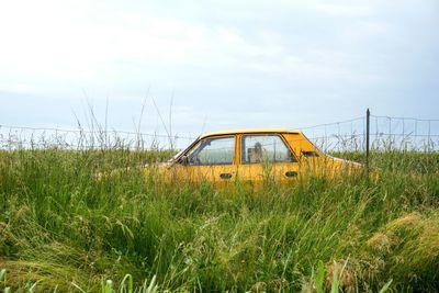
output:
POLYGON ((241 150, 243 164, 296 161, 278 135, 245 135, 241 140, 241 150))

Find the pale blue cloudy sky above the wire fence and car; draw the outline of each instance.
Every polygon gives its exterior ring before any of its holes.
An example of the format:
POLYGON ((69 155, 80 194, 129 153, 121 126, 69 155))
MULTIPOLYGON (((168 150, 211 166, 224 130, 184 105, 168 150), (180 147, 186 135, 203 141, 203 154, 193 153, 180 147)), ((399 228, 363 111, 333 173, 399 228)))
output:
POLYGON ((439 119, 439 1, 1 1, 0 125, 439 119))

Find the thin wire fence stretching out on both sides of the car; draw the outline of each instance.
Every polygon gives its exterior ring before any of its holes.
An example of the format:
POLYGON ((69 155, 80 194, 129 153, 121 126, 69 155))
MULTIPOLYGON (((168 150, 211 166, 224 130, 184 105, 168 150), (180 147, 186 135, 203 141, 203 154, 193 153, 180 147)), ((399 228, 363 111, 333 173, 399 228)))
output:
MULTIPOLYGON (((439 151, 439 120, 364 115, 327 124, 299 127, 324 151, 364 151, 370 149, 439 151), (367 131, 369 120, 369 132, 367 131)), ((181 149, 196 137, 125 131, 23 127, 0 124, 0 149, 128 148, 139 150, 181 149)))

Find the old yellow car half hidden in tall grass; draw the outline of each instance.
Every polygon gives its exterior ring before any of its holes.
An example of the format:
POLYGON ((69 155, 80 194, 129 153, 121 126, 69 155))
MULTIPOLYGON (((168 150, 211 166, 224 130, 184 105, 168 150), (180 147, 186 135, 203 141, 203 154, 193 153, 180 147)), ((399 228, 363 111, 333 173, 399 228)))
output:
POLYGON ((258 185, 267 178, 288 184, 302 176, 333 177, 363 166, 324 154, 301 131, 260 128, 204 134, 160 169, 171 181, 222 187, 236 180, 258 185))

